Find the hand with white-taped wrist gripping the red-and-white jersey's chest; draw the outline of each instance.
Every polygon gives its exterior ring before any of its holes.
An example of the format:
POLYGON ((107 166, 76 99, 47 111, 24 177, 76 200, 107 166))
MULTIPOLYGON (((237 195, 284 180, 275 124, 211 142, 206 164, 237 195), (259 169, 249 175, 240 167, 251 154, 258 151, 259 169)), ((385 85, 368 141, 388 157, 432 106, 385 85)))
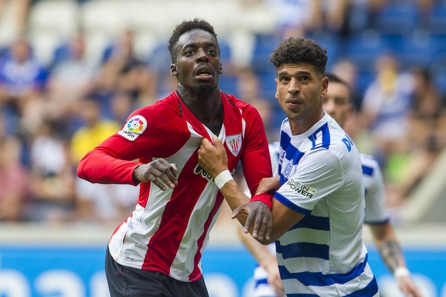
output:
POLYGON ((223 142, 215 135, 212 136, 212 144, 208 139, 203 138, 198 150, 198 165, 206 173, 216 178, 221 172, 227 169, 227 155, 223 142))

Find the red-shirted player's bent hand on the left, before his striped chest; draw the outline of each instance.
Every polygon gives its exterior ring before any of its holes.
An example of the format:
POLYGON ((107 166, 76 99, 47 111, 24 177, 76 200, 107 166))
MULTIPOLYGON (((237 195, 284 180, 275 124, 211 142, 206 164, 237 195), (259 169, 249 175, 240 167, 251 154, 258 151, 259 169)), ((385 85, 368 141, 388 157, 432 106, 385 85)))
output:
POLYGON ((133 171, 133 177, 140 182, 151 181, 165 191, 167 189, 165 185, 173 189, 178 184, 176 180, 177 172, 178 169, 175 164, 168 163, 164 159, 157 159, 138 166, 133 171))

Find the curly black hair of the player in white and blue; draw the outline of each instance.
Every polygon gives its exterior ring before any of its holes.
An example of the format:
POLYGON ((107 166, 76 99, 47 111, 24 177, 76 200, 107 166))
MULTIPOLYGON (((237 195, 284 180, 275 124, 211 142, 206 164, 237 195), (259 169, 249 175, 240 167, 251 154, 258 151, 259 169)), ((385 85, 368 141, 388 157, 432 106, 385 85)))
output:
POLYGON ((284 63, 308 62, 314 65, 316 73, 324 76, 327 65, 327 51, 311 38, 288 37, 269 57, 277 68, 284 63))

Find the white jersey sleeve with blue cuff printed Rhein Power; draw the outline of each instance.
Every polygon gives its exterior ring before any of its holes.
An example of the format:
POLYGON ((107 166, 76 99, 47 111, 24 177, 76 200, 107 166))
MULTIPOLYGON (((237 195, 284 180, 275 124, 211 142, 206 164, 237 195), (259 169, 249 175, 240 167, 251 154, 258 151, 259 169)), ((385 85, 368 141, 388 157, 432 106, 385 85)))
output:
POLYGON ((274 198, 309 215, 316 203, 344 184, 340 160, 326 149, 312 150, 299 161, 297 171, 284 182, 274 198))

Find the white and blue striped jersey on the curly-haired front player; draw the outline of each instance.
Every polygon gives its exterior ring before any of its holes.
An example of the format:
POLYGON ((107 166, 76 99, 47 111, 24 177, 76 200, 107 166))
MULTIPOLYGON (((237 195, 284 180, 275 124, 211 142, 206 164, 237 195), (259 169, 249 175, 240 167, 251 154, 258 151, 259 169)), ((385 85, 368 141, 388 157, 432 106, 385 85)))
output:
POLYGON ((274 198, 306 215, 276 241, 288 297, 379 295, 362 241, 360 172, 356 147, 329 115, 299 135, 282 122, 274 198))

